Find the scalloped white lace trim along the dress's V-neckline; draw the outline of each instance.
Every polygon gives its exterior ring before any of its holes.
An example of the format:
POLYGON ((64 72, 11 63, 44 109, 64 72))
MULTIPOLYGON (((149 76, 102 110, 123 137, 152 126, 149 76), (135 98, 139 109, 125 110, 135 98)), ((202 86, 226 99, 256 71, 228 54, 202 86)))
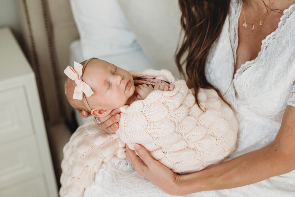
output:
MULTIPOLYGON (((239 10, 241 12, 242 2, 239 1, 238 3, 239 3, 239 5, 238 5, 239 10)), ((261 41, 261 47, 260 47, 260 51, 258 52, 257 57, 253 60, 248 60, 244 64, 242 64, 241 67, 239 69, 237 69, 237 71, 234 75, 234 80, 237 78, 238 75, 240 76, 245 70, 247 70, 252 65, 255 65, 256 62, 258 60, 260 60, 261 54, 264 52, 264 50, 267 50, 267 47, 269 46, 269 44, 272 43, 272 41, 276 38, 276 35, 281 31, 282 26, 286 24, 287 20, 289 19, 289 17, 291 16, 291 14, 294 11, 295 11, 295 4, 290 5, 289 8, 284 10, 283 16, 281 16, 280 22, 278 23, 278 27, 276 28, 276 30, 271 32, 271 34, 267 35, 266 38, 261 41)), ((238 12, 238 13, 240 13, 240 12, 238 12)), ((238 27, 238 22, 235 23, 235 27, 238 27)), ((237 52, 237 46, 235 46, 235 52, 237 52)), ((236 55, 235 55, 235 62, 236 62, 236 55)))

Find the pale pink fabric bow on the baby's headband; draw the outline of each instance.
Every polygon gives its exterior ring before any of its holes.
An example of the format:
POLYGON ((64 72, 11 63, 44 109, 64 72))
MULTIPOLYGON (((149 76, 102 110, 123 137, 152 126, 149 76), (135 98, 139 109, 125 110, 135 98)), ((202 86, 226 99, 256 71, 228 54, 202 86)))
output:
POLYGON ((71 80, 74 80, 76 87, 74 89, 73 99, 82 100, 83 92, 87 97, 91 96, 94 92, 91 87, 81 80, 83 65, 77 62, 74 62, 74 69, 71 66, 67 66, 63 71, 71 80))

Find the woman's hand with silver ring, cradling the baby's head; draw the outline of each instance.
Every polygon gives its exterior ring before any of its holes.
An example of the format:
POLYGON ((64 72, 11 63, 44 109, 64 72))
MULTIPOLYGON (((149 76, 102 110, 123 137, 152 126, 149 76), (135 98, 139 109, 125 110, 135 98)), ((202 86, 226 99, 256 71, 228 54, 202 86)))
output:
MULTIPOLYGON (((119 109, 113 109, 109 115, 105 117, 99 117, 98 120, 100 122, 104 122, 101 124, 98 124, 98 128, 101 130, 104 130, 107 133, 114 133, 119 129, 119 121, 121 118, 121 115, 119 114, 121 111, 119 109)), ((81 118, 87 118, 91 116, 87 111, 79 111, 79 115, 81 118)))

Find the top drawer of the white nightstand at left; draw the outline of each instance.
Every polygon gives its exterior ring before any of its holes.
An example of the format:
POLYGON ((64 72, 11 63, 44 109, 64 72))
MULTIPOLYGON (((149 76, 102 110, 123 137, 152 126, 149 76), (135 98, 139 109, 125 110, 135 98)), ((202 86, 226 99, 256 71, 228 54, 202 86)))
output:
POLYGON ((32 134, 26 95, 22 87, 0 91, 0 144, 32 134))

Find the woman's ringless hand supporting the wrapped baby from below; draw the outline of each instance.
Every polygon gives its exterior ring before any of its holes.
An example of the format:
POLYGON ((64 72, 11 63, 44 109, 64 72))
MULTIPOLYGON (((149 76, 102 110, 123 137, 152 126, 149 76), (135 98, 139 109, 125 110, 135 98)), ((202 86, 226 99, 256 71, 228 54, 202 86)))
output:
POLYGON ((139 156, 126 145, 126 157, 138 174, 168 194, 182 194, 181 187, 178 185, 181 175, 173 173, 169 168, 154 160, 141 145, 135 145, 134 149, 139 156))

